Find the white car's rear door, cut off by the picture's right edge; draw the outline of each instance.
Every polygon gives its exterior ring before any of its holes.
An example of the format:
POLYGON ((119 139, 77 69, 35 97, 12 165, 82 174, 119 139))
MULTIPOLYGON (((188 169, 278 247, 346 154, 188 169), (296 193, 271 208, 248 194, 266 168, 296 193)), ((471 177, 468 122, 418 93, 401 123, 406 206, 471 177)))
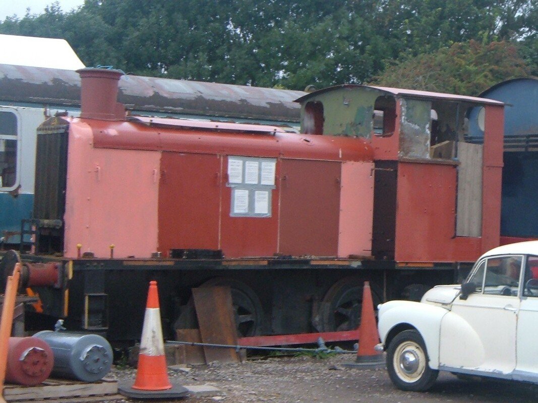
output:
POLYGON ((517 329, 516 377, 536 382, 538 378, 538 256, 528 256, 522 284, 517 329))

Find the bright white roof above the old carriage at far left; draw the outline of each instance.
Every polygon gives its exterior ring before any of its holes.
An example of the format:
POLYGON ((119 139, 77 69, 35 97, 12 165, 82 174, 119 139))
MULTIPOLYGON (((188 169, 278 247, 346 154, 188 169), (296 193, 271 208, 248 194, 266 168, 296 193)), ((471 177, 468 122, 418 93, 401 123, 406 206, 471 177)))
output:
POLYGON ((84 63, 65 39, 0 35, 0 63, 76 70, 84 63))

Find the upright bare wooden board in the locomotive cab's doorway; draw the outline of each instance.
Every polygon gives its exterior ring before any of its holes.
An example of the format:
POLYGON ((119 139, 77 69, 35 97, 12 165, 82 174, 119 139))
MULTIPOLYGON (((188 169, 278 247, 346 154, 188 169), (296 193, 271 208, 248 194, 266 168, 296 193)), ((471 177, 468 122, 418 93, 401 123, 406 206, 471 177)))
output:
POLYGON ((482 145, 458 143, 457 236, 482 236, 482 155, 482 145))

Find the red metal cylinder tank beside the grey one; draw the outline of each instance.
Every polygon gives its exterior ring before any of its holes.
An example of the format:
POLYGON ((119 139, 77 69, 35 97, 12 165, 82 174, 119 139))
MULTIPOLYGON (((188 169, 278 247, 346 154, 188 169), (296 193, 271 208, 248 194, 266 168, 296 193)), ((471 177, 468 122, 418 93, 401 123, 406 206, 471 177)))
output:
POLYGON ((37 337, 10 337, 6 382, 38 385, 51 375, 54 355, 48 344, 37 337))

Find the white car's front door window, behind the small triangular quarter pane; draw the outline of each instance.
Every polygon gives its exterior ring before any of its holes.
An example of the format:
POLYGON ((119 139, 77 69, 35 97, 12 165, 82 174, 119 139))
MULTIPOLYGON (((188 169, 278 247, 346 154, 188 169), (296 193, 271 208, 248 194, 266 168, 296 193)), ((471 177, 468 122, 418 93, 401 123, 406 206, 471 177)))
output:
POLYGON ((522 256, 487 258, 484 294, 517 296, 522 261, 522 256))

